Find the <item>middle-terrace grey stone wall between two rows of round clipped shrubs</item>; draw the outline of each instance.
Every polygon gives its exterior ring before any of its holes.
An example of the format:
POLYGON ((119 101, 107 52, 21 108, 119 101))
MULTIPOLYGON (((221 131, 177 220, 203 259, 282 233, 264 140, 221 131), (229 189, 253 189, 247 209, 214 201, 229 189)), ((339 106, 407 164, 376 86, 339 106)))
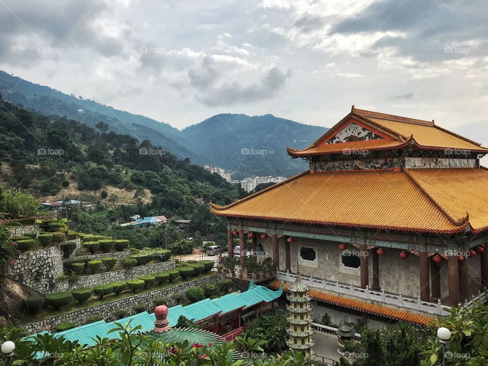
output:
POLYGON ((119 269, 115 271, 97 273, 96 275, 81 276, 75 281, 60 281, 55 284, 52 292, 71 291, 74 288, 94 287, 105 285, 110 282, 125 282, 131 279, 137 279, 139 276, 151 275, 152 273, 161 272, 168 269, 174 269, 174 261, 167 261, 144 266, 134 267, 132 269, 119 269))

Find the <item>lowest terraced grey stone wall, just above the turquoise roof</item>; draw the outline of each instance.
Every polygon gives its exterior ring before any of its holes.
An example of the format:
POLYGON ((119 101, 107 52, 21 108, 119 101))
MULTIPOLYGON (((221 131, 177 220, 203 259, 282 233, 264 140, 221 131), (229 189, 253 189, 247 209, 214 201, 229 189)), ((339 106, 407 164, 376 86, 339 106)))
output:
MULTIPOLYGON (((166 262, 167 263, 167 262, 166 262)), ((126 297, 120 300, 115 300, 107 302, 92 308, 75 310, 69 313, 59 314, 50 318, 39 320, 32 323, 27 323, 23 325, 23 328, 28 334, 34 334, 41 332, 48 325, 54 325, 54 323, 65 323, 72 322, 77 325, 83 325, 89 318, 93 316, 101 316, 105 321, 110 322, 115 320, 113 313, 119 309, 126 309, 128 315, 132 314, 132 307, 135 304, 144 304, 147 310, 152 311, 154 308, 154 299, 157 297, 165 297, 167 299, 167 306, 172 307, 177 305, 172 299, 172 296, 178 292, 185 293, 185 291, 193 286, 202 286, 208 283, 217 283, 217 281, 222 280, 224 276, 219 273, 219 275, 206 277, 204 279, 195 280, 176 286, 166 287, 164 289, 147 292, 140 295, 135 295, 131 297, 126 297)))

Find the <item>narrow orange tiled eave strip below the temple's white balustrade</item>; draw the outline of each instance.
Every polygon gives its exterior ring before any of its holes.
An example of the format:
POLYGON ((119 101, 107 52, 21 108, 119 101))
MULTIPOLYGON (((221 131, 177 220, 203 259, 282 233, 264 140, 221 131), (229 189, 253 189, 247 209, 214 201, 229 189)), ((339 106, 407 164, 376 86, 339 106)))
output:
MULTIPOLYGON (((272 289, 279 289, 282 285, 279 281, 271 282, 268 286, 272 289)), ((284 286, 284 291, 287 291, 288 285, 284 286)), ((370 304, 359 300, 353 300, 346 297, 335 296, 325 292, 310 290, 309 295, 318 300, 334 305, 338 305, 344 308, 354 309, 369 314, 379 315, 390 319, 404 320, 415 324, 428 325, 434 319, 423 315, 416 315, 406 311, 394 310, 387 307, 370 304)))

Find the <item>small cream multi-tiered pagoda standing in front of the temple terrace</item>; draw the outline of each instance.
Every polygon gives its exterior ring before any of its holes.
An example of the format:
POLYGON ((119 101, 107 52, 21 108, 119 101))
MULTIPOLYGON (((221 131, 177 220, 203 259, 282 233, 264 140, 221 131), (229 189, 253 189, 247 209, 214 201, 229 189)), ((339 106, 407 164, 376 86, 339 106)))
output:
POLYGON ((288 317, 290 327, 287 329, 287 333, 290 335, 290 339, 286 341, 286 344, 295 352, 301 352, 303 356, 314 359, 315 353, 312 347, 315 345, 315 341, 312 339, 314 331, 310 328, 313 318, 310 316, 312 307, 310 306, 311 298, 308 295, 309 287, 301 282, 300 264, 298 262, 296 271, 295 282, 286 296, 290 301, 287 306, 290 313, 288 317))

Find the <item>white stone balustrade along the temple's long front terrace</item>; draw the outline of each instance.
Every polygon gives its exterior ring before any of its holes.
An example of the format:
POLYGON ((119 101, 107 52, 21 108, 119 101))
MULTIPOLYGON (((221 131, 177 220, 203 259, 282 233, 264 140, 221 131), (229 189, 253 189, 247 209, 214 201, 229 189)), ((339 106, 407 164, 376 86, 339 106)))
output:
MULTIPOLYGON (((295 275, 289 273, 288 271, 277 271, 276 278, 278 280, 294 282, 295 275)), ((448 306, 441 304, 441 300, 437 303, 426 302, 420 300, 420 295, 417 298, 403 296, 402 293, 393 294, 385 292, 385 290, 375 291, 366 287, 365 289, 355 286, 354 284, 345 284, 339 281, 327 281, 324 279, 317 279, 312 276, 301 275, 301 280, 304 284, 310 287, 315 287, 319 289, 324 289, 327 291, 337 292, 343 295, 350 295, 354 297, 359 297, 362 299, 383 302, 389 305, 393 305, 400 308, 407 308, 412 310, 417 310, 424 313, 435 314, 435 315, 448 315, 447 310, 450 309, 448 306)))

